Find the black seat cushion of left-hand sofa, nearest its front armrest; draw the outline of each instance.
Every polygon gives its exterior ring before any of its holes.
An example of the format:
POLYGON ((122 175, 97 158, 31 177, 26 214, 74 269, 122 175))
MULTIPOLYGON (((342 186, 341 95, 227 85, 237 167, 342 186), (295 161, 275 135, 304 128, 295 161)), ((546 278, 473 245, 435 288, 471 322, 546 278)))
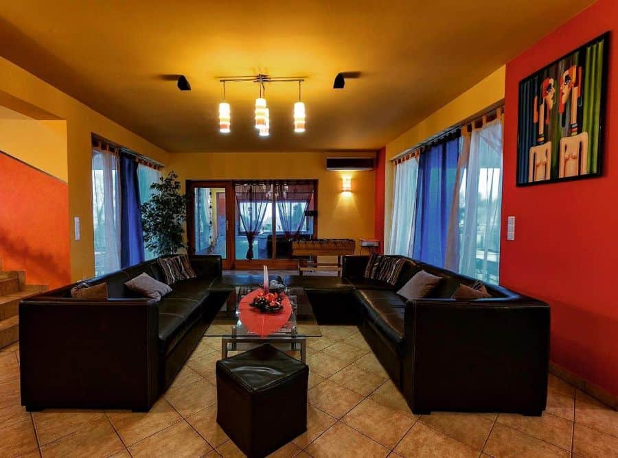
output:
POLYGON ((159 352, 169 354, 201 315, 201 301, 165 296, 159 302, 159 352))

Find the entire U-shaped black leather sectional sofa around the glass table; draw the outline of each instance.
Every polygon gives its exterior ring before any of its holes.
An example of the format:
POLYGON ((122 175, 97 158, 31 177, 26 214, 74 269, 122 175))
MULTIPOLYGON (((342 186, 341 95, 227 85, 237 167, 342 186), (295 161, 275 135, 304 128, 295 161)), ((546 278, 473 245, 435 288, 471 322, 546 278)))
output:
MULTIPOLYGON (((474 279, 407 259, 394 287, 363 278, 368 256, 345 256, 343 274, 287 276, 306 289, 321 324, 356 324, 415 413, 502 411, 540 415, 547 398, 549 306, 502 287, 492 298, 450 299, 474 279), (430 297, 396 294, 420 269, 443 277, 430 297)), ((222 275, 220 256, 190 256, 197 278, 173 285, 161 302, 124 282, 155 261, 89 280, 110 299, 76 300, 68 285, 19 307, 21 398, 52 407, 150 409, 172 383, 236 286, 262 276, 222 275)), ((271 276, 277 278, 277 276, 271 276)))

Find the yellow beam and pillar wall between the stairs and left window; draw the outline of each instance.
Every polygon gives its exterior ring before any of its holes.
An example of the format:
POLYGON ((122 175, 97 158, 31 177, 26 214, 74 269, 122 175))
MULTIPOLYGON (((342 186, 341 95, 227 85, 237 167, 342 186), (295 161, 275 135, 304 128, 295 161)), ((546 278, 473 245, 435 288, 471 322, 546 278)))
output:
POLYGON ((82 221, 80 241, 73 239, 72 230, 67 234, 71 239, 71 278, 92 276, 91 134, 94 132, 163 163, 168 161, 168 153, 4 58, 0 58, 0 75, 0 104, 18 111, 25 106, 36 108, 34 111, 52 115, 49 119, 67 121, 70 227, 73 227, 73 217, 78 216, 82 221))

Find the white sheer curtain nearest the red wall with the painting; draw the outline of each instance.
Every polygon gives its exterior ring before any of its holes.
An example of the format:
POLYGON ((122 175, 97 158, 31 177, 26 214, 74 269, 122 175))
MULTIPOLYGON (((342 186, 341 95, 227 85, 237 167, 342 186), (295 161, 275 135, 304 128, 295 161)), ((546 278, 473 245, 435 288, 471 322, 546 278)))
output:
MULTIPOLYGON (((502 200, 502 117, 475 128, 459 161, 460 183, 455 191, 451 227, 459 232, 452 253, 459 272, 485 282, 498 283, 502 200), (467 156, 467 157, 466 157, 467 156)), ((457 267, 450 265, 451 269, 457 267)))

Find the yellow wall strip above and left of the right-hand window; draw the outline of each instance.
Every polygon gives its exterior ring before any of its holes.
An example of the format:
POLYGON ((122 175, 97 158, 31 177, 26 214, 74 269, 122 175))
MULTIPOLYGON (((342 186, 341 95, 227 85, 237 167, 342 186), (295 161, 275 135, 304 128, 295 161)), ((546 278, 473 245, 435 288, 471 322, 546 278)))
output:
MULTIPOLYGON (((483 112, 504 99, 506 67, 500 67, 488 77, 472 86, 456 99, 433 112, 413 128, 386 145, 387 160, 431 136, 457 125, 469 117, 483 112)), ((385 177, 385 252, 388 250, 393 215, 393 182, 395 167, 389 162, 385 177)))

